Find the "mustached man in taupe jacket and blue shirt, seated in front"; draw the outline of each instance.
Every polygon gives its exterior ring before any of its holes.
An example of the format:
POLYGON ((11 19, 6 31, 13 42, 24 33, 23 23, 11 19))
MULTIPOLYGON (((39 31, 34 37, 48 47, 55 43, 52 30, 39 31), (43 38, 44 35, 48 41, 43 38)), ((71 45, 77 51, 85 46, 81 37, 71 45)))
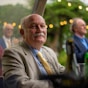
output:
POLYGON ((49 80, 39 80, 48 75, 43 64, 36 56, 40 51, 48 62, 53 74, 64 72, 54 51, 43 44, 47 39, 45 20, 38 14, 24 17, 20 34, 23 42, 6 49, 3 55, 3 76, 6 88, 54 88, 49 80))

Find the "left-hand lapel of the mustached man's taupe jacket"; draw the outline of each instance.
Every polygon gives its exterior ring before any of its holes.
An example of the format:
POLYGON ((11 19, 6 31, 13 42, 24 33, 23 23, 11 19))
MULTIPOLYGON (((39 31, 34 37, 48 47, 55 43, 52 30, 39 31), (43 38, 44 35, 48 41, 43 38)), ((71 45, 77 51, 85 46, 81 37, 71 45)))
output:
POLYGON ((23 52, 25 54, 27 64, 30 65, 30 68, 33 70, 33 74, 35 74, 35 76, 39 75, 40 70, 37 66, 35 59, 34 59, 32 51, 30 50, 30 48, 27 46, 27 44, 25 42, 23 42, 21 44, 21 46, 23 48, 23 52))

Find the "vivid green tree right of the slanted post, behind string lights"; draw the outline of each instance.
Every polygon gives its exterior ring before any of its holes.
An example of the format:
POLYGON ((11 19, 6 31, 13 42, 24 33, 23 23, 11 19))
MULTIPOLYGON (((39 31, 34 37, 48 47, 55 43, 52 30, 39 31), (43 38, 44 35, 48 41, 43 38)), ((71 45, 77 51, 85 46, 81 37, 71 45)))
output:
POLYGON ((52 3, 46 5, 44 17, 47 25, 53 24, 51 29, 48 27, 48 40, 46 45, 53 48, 56 52, 63 50, 65 40, 71 36, 69 31, 69 20, 74 17, 82 17, 88 21, 88 13, 84 9, 80 10, 78 6, 86 8, 86 5, 80 0, 62 0, 58 2, 54 0, 52 3), (72 6, 68 6, 68 2, 72 6), (60 22, 66 21, 67 24, 61 25, 60 22))

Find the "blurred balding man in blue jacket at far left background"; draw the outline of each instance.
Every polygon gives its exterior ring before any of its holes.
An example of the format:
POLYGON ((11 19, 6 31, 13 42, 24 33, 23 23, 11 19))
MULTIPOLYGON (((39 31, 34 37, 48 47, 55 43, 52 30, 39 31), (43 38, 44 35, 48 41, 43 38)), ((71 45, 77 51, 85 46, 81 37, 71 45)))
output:
POLYGON ((3 36, 0 38, 0 45, 3 49, 9 48, 11 46, 11 37, 13 35, 14 27, 12 24, 8 23, 3 26, 3 36))

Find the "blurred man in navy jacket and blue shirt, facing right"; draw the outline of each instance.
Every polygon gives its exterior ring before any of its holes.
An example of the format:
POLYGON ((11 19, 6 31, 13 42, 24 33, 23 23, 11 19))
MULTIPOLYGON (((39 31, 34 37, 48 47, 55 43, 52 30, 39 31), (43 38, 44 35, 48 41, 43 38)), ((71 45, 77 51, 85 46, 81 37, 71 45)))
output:
POLYGON ((84 55, 88 51, 86 23, 82 18, 74 18, 70 30, 73 33, 75 53, 78 63, 84 63, 84 55))

